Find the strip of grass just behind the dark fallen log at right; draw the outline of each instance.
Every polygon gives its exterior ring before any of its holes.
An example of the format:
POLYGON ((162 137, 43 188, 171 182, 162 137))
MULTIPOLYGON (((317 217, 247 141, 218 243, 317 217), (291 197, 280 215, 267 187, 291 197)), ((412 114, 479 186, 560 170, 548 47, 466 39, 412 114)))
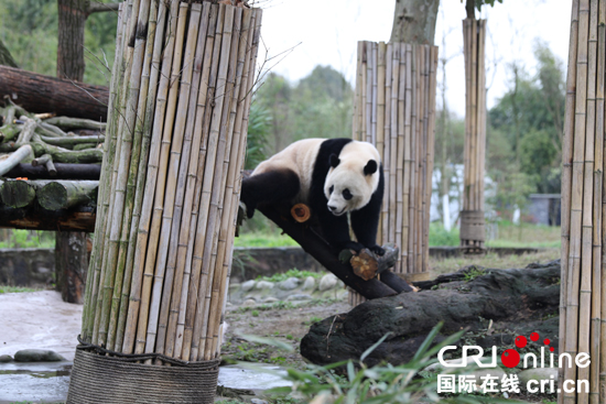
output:
POLYGON ((477 265, 490 269, 526 267, 528 264, 533 262, 545 263, 559 258, 559 249, 548 249, 537 253, 522 255, 499 256, 494 252, 489 252, 486 255, 467 255, 448 259, 436 259, 430 256, 430 276, 433 279, 441 274, 456 272, 467 265, 477 265))

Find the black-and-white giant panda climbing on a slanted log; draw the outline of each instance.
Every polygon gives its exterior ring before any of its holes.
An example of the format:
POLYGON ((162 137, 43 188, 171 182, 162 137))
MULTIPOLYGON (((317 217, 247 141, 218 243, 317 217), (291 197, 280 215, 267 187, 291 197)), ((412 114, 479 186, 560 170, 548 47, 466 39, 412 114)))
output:
POLYGON ((339 250, 367 248, 382 255, 377 229, 383 198, 377 149, 351 139, 305 139, 260 163, 242 181, 249 218, 258 204, 304 203, 317 215, 326 241, 339 250), (349 237, 351 229, 357 241, 349 237))

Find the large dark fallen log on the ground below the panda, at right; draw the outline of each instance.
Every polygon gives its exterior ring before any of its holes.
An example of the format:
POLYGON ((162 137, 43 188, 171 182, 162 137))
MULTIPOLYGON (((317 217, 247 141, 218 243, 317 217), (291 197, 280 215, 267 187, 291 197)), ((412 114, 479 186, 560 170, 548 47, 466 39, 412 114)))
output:
POLYGON ((553 315, 560 306, 559 261, 523 270, 483 269, 484 274, 473 280, 468 271, 429 281, 423 285, 429 290, 367 301, 349 313, 315 323, 301 340, 301 354, 316 364, 358 360, 391 332, 365 362, 407 363, 440 321, 444 324, 434 343, 469 327, 466 345, 479 345, 479 339, 500 341, 501 336, 496 335, 509 331, 522 336, 539 332, 552 340, 550 346, 558 347, 559 318, 553 315), (431 290, 434 285, 439 290, 431 290), (491 329, 499 332, 486 332, 489 320, 491 329))

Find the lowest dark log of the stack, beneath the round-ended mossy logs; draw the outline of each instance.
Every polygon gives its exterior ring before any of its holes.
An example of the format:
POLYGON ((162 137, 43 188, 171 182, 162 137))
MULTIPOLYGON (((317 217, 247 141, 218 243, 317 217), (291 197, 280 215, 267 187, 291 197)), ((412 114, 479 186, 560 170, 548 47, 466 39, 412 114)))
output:
POLYGON ((35 207, 10 208, 0 205, 0 227, 28 230, 87 231, 95 230, 95 208, 46 210, 35 207))

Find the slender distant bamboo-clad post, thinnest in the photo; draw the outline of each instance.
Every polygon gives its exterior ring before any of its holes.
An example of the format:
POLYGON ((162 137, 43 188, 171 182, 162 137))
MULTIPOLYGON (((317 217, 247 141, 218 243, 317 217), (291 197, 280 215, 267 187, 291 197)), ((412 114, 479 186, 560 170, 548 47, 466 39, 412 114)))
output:
POLYGON ((465 56, 465 149, 461 247, 484 251, 484 165, 486 155, 486 20, 463 20, 465 56))

